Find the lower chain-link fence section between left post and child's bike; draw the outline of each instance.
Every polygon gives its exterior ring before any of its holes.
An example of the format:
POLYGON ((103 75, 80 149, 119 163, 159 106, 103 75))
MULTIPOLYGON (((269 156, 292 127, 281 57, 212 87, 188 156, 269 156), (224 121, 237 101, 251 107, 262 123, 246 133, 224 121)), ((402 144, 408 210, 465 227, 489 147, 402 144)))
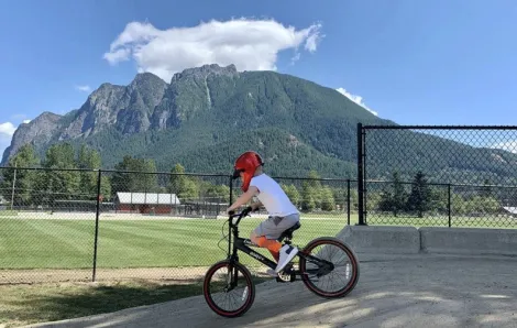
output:
POLYGON ((229 177, 103 172, 97 280, 191 280, 224 258, 217 248, 229 177))

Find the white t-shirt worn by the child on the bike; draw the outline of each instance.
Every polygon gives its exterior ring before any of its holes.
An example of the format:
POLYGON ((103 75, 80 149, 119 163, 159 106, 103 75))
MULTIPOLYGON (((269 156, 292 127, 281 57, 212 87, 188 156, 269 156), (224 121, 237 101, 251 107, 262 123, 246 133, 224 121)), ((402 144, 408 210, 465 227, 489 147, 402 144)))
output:
POLYGON ((255 186, 258 189, 256 198, 264 205, 270 216, 285 217, 298 214, 298 209, 289 200, 280 185, 268 175, 263 173, 254 176, 250 186, 255 186))

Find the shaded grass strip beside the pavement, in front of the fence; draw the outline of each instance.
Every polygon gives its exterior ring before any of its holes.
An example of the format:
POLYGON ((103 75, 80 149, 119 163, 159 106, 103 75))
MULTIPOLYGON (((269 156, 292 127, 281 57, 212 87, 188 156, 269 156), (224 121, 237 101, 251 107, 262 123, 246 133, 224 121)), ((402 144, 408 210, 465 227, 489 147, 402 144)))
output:
MULTIPOLYGON (((271 278, 254 276, 253 280, 260 284, 271 278)), ((202 282, 0 285, 0 327, 21 327, 201 295, 202 282)))

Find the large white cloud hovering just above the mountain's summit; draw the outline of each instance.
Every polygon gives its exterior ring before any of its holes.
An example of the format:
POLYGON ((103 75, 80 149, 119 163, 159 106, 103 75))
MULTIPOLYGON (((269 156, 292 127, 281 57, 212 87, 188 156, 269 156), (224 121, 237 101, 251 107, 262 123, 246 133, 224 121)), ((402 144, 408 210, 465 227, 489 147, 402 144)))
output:
POLYGON ((111 43, 103 58, 111 65, 132 56, 139 72, 151 72, 166 81, 174 73, 205 64, 228 66, 239 70, 276 70, 279 52, 299 47, 309 53, 323 37, 321 24, 296 30, 274 20, 237 19, 201 22, 196 26, 158 30, 150 23, 131 22, 111 43))

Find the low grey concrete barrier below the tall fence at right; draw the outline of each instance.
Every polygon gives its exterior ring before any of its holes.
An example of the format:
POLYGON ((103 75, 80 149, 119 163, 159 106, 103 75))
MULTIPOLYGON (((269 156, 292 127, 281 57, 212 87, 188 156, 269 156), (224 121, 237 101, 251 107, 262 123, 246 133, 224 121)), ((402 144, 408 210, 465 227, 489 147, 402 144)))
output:
POLYGON ((358 254, 465 254, 517 256, 517 230, 346 226, 337 236, 358 254))

